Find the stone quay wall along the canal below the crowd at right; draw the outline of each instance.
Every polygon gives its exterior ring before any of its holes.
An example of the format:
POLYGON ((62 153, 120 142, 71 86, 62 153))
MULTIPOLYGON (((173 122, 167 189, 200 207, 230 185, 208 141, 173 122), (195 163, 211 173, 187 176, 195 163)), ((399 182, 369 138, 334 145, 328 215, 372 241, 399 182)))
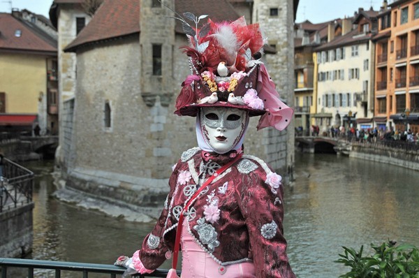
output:
POLYGON ((419 170, 419 152, 382 145, 352 144, 350 157, 419 170))

